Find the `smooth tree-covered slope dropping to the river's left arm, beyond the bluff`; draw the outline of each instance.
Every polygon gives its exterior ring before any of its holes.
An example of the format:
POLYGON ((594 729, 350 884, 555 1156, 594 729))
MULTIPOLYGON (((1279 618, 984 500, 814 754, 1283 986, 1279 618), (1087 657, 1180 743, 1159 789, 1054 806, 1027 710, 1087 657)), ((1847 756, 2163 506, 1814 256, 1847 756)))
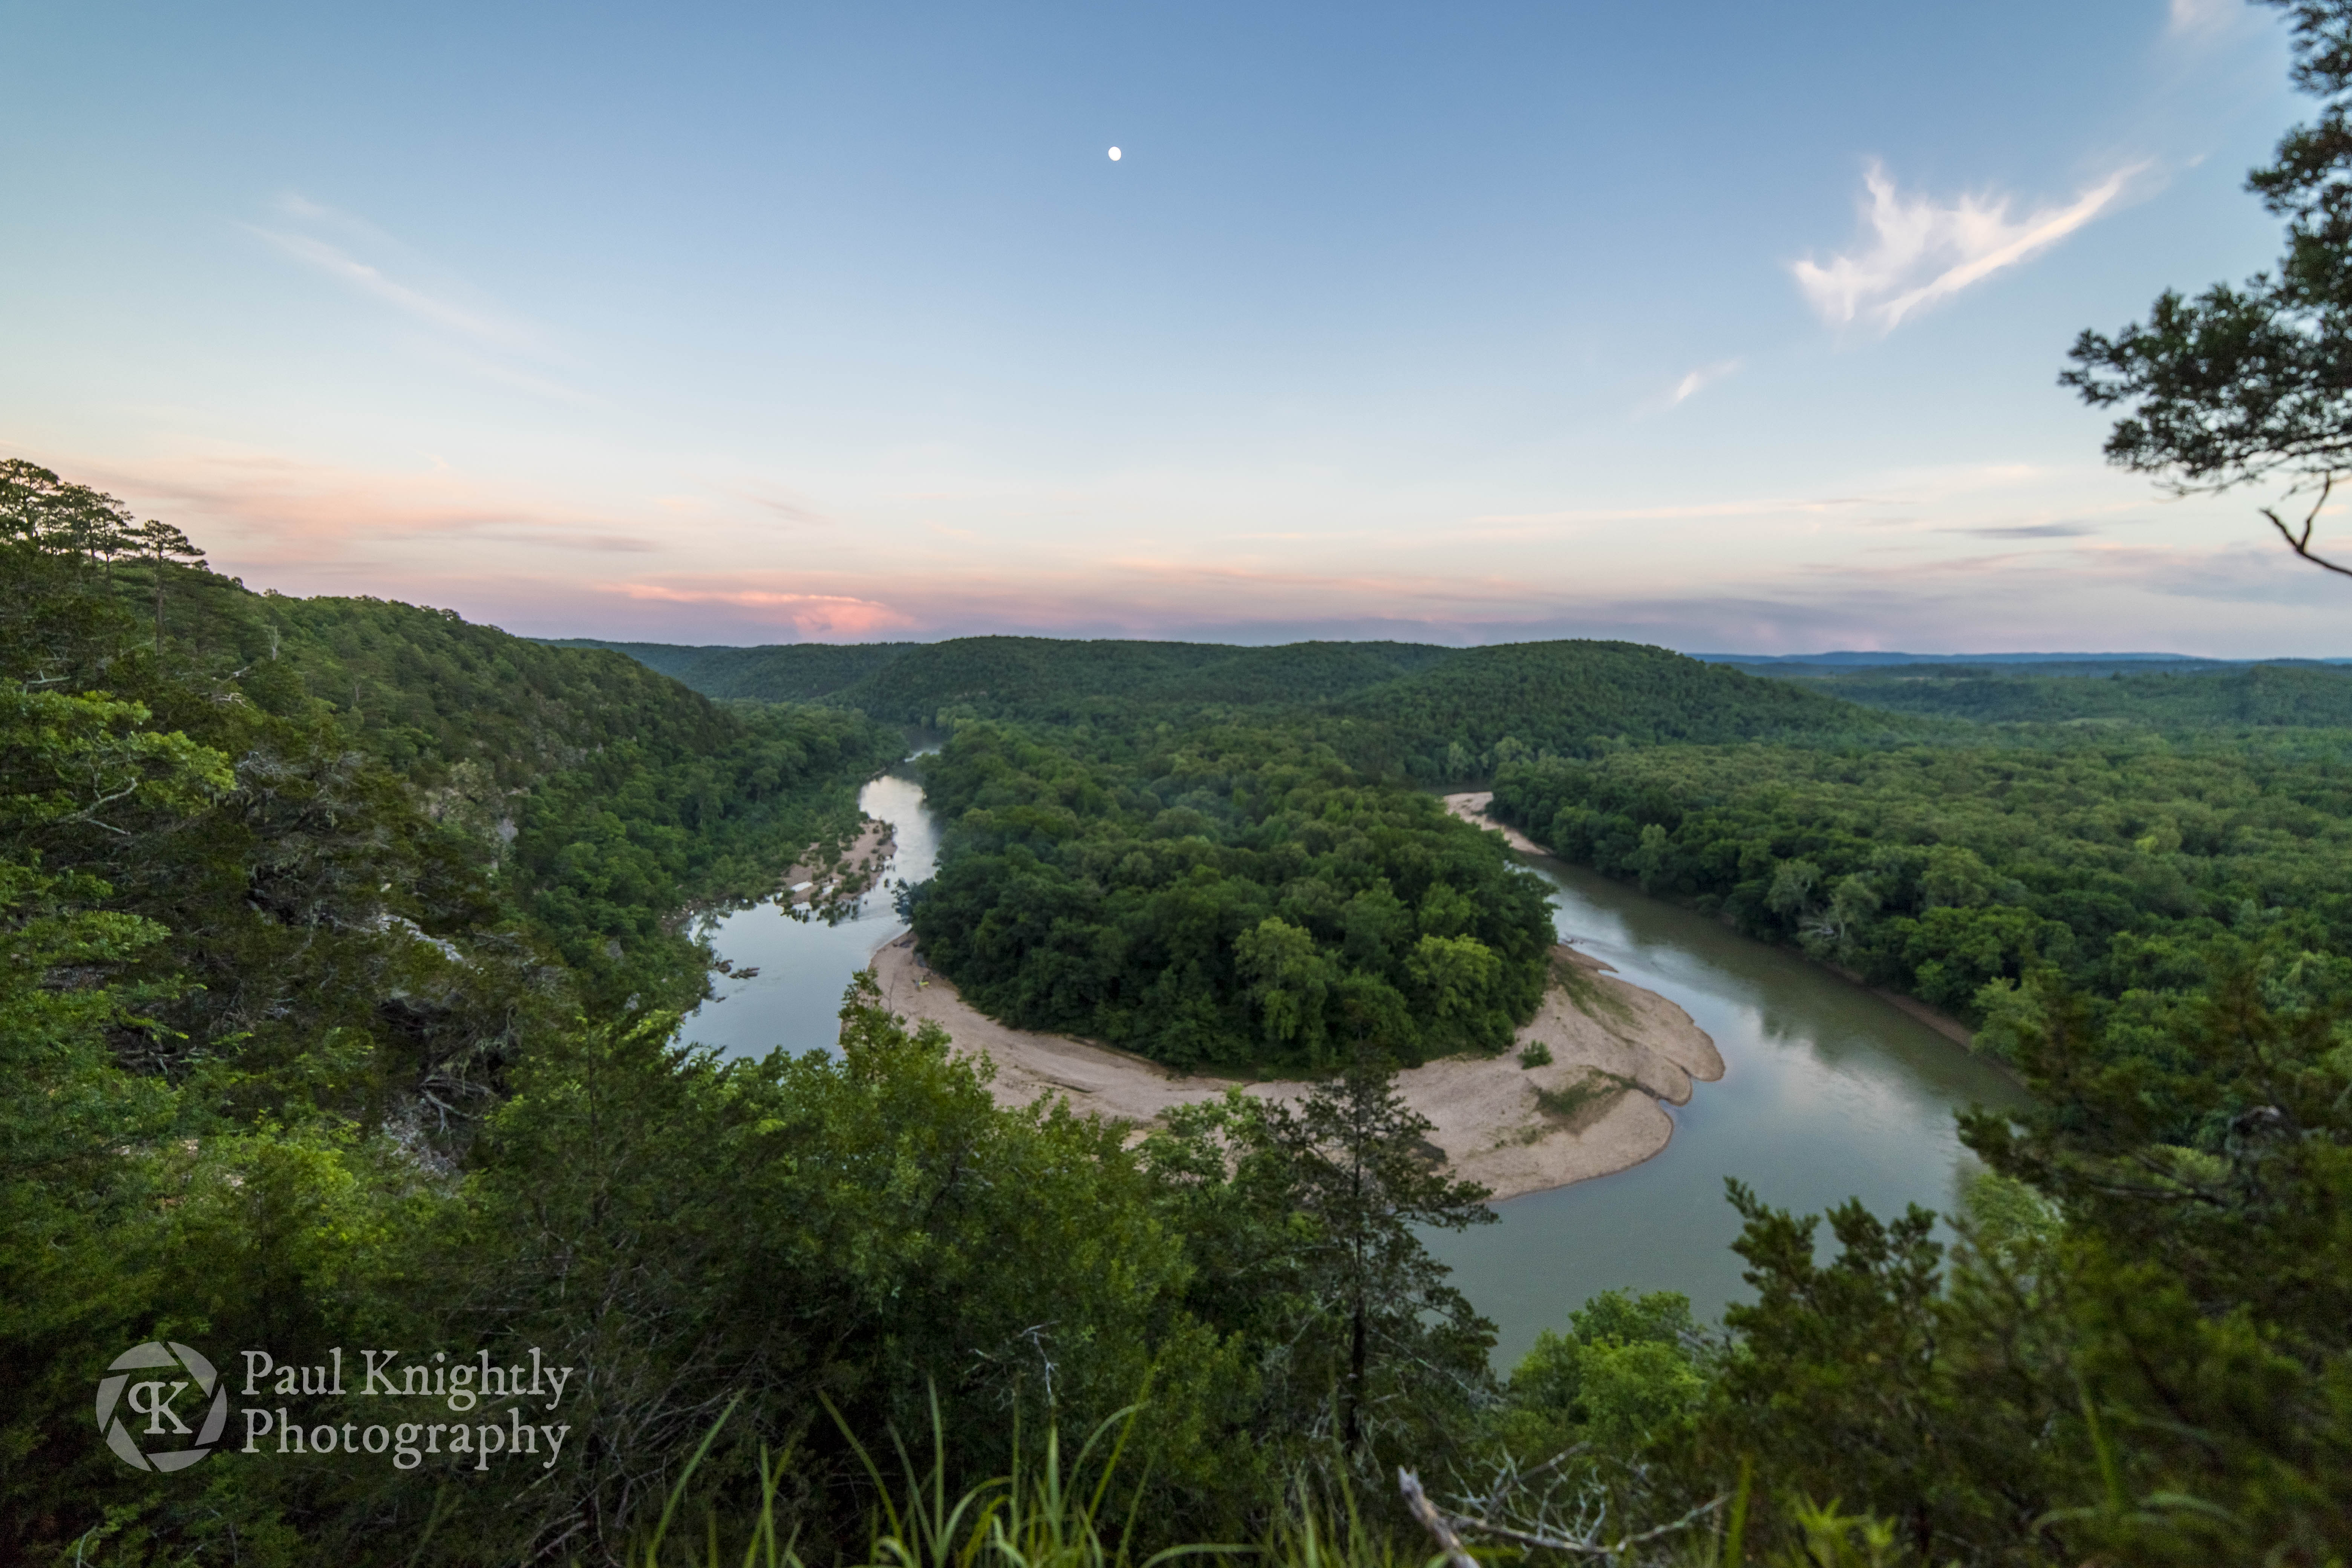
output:
MULTIPOLYGON (((153 588, 125 562, 80 592, 42 590, 49 621, 82 604, 113 628, 56 665, 68 689, 141 689, 125 679, 146 661, 134 628, 153 588)), ((764 893, 811 842, 851 832, 856 785, 903 750, 849 710, 729 710, 642 661, 454 611, 263 595, 188 567, 165 569, 162 602, 172 693, 287 724, 320 757, 353 752, 360 776, 362 759, 388 769, 583 999, 691 1006, 706 954, 682 910, 764 893)))

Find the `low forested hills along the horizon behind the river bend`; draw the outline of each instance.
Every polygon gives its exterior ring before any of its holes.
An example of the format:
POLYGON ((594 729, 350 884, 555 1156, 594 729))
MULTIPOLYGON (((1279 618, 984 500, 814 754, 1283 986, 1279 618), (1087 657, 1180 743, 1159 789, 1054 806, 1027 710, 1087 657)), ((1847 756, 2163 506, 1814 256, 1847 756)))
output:
POLYGON ((1915 719, 1632 642, 1235 649, 957 637, 863 646, 602 646, 710 696, 818 698, 898 724, 976 717, 1117 724, 1211 710, 1345 719, 1376 731, 1348 745, 1350 755, 1425 778, 1472 778, 1515 757, 1588 755, 1621 743, 1922 733, 1915 719))

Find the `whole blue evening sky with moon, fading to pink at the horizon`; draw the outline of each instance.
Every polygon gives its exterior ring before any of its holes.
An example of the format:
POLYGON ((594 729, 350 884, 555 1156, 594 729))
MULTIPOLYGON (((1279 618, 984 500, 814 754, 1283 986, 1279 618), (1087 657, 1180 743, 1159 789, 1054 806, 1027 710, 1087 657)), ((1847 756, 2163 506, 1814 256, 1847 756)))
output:
POLYGON ((2056 386, 2277 256, 2244 176, 2312 106, 2270 7, 0 38, 0 456, 252 588, 736 644, 2352 654, 2272 494, 2112 470, 2056 386))

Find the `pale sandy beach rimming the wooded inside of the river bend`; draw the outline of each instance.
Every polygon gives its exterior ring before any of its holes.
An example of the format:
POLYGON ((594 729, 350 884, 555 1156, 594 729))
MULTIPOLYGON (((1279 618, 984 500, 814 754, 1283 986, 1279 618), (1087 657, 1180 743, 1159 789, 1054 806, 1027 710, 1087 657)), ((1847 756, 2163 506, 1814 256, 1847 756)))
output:
MULTIPOLYGON (((1430 1140, 1446 1152, 1451 1171, 1484 1182, 1498 1199, 1642 1164, 1675 1131, 1658 1100, 1684 1105, 1693 1079, 1724 1074, 1715 1041, 1679 1006, 1618 980, 1606 964, 1566 945, 1552 957, 1555 983, 1519 1030, 1519 1046, 1543 1041, 1550 1065, 1522 1067, 1517 1053, 1446 1058, 1397 1077, 1404 1098, 1435 1124, 1430 1140), (1571 1107, 1545 1110, 1538 1091, 1566 1091, 1571 1107)), ((913 933, 875 952, 873 966, 894 1013, 908 1023, 936 1020, 957 1051, 995 1063, 995 1093, 1004 1105, 1068 1095, 1080 1112, 1148 1126, 1171 1105, 1209 1100, 1232 1086, 985 1018, 922 961, 913 933)), ((1247 1084, 1244 1091, 1298 1098, 1305 1086, 1247 1084)))

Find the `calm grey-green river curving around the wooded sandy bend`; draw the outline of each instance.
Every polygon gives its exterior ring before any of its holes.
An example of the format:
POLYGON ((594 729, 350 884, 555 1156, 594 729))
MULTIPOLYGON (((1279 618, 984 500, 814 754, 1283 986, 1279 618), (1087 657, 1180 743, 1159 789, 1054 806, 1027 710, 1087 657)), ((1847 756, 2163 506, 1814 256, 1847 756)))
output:
MULTIPOLYGON (((920 785, 884 773, 861 804, 898 827, 891 879, 929 877, 938 823, 920 785)), ((1724 1077, 1670 1107, 1675 1138, 1656 1159, 1498 1204, 1496 1225, 1430 1237, 1496 1321, 1498 1366, 1595 1291, 1682 1291, 1700 1319, 1740 1298, 1726 1175, 1802 1213, 1849 1197, 1882 1215, 1905 1204, 1952 1208, 1973 1168, 1952 1112, 2025 1103, 1990 1063, 1792 952, 1562 860, 1526 863, 1552 884, 1559 933, 1679 1001, 1722 1048, 1724 1077)), ((720 957, 760 973, 720 976, 720 997, 687 1018, 687 1039, 727 1053, 830 1051, 842 987, 903 929, 887 889, 837 926, 788 919, 776 905, 715 919, 720 957)))

